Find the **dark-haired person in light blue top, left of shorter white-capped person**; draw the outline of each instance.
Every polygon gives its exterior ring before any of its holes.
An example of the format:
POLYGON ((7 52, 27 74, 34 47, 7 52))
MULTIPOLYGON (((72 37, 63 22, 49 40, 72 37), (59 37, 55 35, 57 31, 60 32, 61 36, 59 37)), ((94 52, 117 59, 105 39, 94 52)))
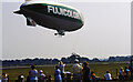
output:
POLYGON ((30 71, 31 82, 38 82, 37 73, 38 71, 35 70, 35 65, 31 65, 31 71, 30 71))

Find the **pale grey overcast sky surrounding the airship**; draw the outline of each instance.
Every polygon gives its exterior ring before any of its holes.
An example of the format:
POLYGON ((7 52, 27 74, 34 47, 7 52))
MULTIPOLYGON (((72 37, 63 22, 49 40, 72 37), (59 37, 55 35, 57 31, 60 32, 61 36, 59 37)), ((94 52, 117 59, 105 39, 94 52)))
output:
POLYGON ((54 37, 54 30, 25 25, 23 16, 13 14, 21 3, 2 2, 2 59, 60 59, 72 52, 90 59, 131 54, 130 1, 62 2, 79 9, 85 20, 82 29, 63 38, 54 37))

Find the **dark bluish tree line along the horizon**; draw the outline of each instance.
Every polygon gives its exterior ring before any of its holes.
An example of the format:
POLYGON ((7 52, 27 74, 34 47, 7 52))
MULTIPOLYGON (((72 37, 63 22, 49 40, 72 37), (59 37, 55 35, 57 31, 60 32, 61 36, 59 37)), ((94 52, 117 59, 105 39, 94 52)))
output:
MULTIPOLYGON (((74 60, 78 59, 81 63, 86 61, 86 62, 121 62, 121 61, 130 61, 131 55, 129 57, 110 57, 109 59, 103 59, 100 60, 98 58, 89 59, 85 57, 80 57, 76 53, 72 53, 68 58, 61 58, 61 61, 69 64, 73 63, 74 60)), ((58 64, 60 61, 59 59, 23 59, 23 60, 1 60, 2 61, 2 66, 14 66, 14 65, 44 65, 44 64, 58 64)))

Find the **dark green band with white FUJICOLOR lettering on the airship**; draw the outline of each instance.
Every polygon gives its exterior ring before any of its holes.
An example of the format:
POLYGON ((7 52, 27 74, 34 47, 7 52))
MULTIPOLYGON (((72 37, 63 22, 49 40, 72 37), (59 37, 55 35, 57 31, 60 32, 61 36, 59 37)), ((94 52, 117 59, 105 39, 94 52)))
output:
POLYGON ((48 4, 48 3, 33 3, 22 8, 32 10, 42 14, 52 16, 55 18, 68 19, 75 22, 83 22, 79 11, 69 7, 48 4))

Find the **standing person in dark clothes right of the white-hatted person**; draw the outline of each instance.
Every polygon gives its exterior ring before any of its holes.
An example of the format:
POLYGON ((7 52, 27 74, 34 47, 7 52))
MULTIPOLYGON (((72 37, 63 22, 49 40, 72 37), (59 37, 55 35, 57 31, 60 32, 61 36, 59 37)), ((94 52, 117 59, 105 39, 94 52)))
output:
POLYGON ((90 82, 90 68, 88 62, 83 62, 83 82, 90 82))

